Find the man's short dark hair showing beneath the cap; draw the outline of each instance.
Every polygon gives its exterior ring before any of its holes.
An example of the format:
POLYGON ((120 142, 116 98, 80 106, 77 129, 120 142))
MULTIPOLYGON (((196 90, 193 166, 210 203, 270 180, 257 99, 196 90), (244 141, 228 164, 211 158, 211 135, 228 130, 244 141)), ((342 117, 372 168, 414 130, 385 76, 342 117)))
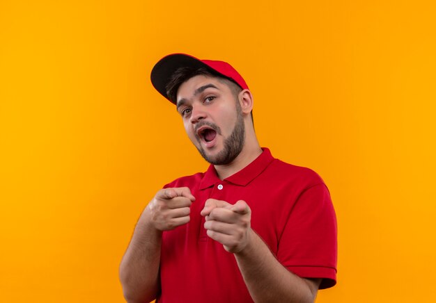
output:
MULTIPOLYGON (((228 79, 225 76, 215 72, 215 70, 205 67, 179 67, 176 69, 176 72, 173 73, 170 81, 166 85, 166 95, 169 97, 170 101, 173 102, 173 104, 177 104, 177 92, 180 88, 180 85, 198 75, 214 77, 219 79, 219 81, 226 83, 238 102, 238 95, 242 91, 242 88, 232 79, 228 79)), ((253 120, 253 110, 251 110, 251 120, 253 120)))

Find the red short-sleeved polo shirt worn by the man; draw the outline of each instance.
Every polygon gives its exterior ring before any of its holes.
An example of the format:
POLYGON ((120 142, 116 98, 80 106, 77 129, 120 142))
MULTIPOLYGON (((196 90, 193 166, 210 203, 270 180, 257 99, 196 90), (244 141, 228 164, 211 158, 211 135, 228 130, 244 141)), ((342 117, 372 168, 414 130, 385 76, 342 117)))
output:
POLYGON ((323 278, 320 288, 336 284, 336 216, 322 179, 308 168, 273 158, 270 150, 224 180, 210 165, 205 173, 165 186, 190 188, 196 200, 191 220, 162 238, 157 302, 253 302, 233 254, 209 238, 200 215, 206 199, 251 208, 251 228, 279 262, 305 278, 323 278))

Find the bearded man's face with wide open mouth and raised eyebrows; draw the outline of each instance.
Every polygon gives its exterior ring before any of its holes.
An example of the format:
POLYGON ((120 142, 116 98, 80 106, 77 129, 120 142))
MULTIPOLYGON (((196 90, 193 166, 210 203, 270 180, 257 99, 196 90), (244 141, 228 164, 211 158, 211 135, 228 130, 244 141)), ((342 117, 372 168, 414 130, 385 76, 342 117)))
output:
POLYGON ((214 165, 231 163, 244 147, 242 110, 223 79, 194 76, 180 85, 177 110, 189 139, 214 165))

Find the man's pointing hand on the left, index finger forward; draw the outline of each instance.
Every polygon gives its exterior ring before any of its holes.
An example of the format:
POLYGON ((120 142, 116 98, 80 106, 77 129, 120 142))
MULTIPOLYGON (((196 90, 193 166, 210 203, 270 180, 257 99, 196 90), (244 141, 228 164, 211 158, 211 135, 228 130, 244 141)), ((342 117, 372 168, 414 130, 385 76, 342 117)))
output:
POLYGON ((187 187, 159 190, 146 207, 150 223, 159 231, 169 231, 189 222, 189 213, 195 197, 187 187))

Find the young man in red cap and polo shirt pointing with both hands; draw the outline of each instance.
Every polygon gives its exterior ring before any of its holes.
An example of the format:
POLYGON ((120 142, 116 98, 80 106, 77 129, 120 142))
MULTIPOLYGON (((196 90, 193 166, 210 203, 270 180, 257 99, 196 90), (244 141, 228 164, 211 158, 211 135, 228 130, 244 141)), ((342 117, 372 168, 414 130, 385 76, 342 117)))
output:
POLYGON ((121 261, 128 302, 313 302, 336 284, 336 217, 315 172, 273 158, 253 97, 221 61, 162 58, 151 81, 210 163, 164 186, 121 261))

